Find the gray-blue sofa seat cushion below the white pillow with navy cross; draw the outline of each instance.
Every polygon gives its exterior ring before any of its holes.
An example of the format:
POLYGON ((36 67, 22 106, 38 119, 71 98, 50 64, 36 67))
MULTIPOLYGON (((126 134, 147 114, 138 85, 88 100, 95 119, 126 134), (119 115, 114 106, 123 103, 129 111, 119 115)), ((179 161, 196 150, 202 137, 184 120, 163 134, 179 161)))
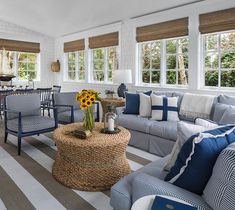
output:
POLYGON ((177 122, 151 121, 149 133, 165 139, 177 139, 177 122))

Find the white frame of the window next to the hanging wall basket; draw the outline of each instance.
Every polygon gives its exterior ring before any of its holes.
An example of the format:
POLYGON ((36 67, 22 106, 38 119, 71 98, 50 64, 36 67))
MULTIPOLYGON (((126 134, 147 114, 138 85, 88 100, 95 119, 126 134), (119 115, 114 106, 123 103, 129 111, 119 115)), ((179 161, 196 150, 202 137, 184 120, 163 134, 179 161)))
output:
MULTIPOLYGON (((75 51, 75 52, 66 52, 64 53, 64 63, 65 63, 65 75, 64 75, 64 78, 65 78, 65 81, 66 82, 85 82, 86 81, 86 52, 85 50, 79 50, 79 51, 75 51), (72 71, 69 71, 69 59, 68 59, 68 56, 69 56, 69 53, 75 53, 75 79, 72 80, 72 79, 69 79, 69 72, 72 72, 72 71), (80 60, 79 60, 79 55, 80 53, 83 53, 84 54, 84 79, 81 80, 79 79, 79 73, 80 73, 80 60)), ((71 62, 72 63, 72 62, 71 62)))

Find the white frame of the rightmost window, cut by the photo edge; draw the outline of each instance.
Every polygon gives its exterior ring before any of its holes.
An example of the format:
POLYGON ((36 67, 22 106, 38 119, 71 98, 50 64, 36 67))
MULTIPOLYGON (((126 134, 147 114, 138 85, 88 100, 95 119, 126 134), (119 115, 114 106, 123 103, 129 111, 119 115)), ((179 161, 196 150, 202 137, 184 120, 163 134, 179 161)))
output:
MULTIPOLYGON (((221 50, 221 35, 222 34, 226 34, 226 33, 231 33, 231 32, 234 32, 235 33, 235 30, 229 30, 229 31, 221 31, 221 32, 215 32, 215 33, 208 33, 208 34, 202 34, 201 35, 201 48, 202 48, 202 54, 201 54, 201 69, 202 69, 202 76, 201 76, 201 80, 202 80, 202 89, 219 89, 219 90, 229 90, 229 89, 232 89, 234 90, 235 87, 221 87, 221 72, 222 71, 231 71, 231 70, 235 70, 235 68, 228 68, 228 69, 222 69, 221 68, 221 54, 222 52, 226 51, 226 50, 221 50), (213 50, 213 51, 210 51, 210 52, 214 52, 214 53, 218 53, 218 86, 206 86, 206 81, 205 81, 205 73, 206 73, 206 70, 205 70, 205 58, 206 58, 206 39, 205 37, 207 35, 218 35, 218 42, 217 42, 217 48, 218 50, 213 50)), ((235 52, 235 49, 234 51, 228 51, 228 52, 235 52)))

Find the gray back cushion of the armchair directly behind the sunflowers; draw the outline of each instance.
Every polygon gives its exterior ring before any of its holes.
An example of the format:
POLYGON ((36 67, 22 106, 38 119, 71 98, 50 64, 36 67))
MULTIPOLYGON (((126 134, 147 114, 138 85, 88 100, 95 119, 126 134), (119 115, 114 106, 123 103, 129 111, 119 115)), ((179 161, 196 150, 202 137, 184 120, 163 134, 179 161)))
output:
MULTIPOLYGON (((80 109, 79 103, 76 101, 77 92, 55 93, 53 95, 54 105, 71 105, 74 109, 80 109)), ((69 111, 70 108, 58 108, 58 112, 69 111)))

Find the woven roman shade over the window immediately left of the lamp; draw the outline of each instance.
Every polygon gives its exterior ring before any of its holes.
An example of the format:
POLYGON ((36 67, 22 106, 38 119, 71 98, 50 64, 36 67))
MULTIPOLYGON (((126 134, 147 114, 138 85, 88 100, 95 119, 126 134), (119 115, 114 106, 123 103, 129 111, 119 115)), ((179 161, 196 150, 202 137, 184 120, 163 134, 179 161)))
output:
POLYGON ((93 36, 89 38, 89 48, 101 48, 118 45, 118 32, 93 36))

